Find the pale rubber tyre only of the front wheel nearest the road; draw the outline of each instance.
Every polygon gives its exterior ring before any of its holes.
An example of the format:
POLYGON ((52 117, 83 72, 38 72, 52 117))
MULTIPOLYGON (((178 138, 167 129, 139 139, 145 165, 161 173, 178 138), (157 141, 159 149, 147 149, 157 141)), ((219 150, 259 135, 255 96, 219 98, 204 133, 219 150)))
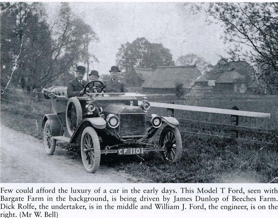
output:
POLYGON ((92 127, 86 127, 81 136, 81 157, 82 157, 82 162, 83 166, 85 167, 86 171, 88 173, 95 173, 98 168, 99 168, 99 163, 100 163, 100 145, 99 145, 99 137, 96 133, 96 130, 92 127), (86 134, 90 134, 94 146, 94 163, 92 167, 88 166, 88 162, 86 159, 86 153, 84 151, 85 145, 83 144, 83 140, 86 134))

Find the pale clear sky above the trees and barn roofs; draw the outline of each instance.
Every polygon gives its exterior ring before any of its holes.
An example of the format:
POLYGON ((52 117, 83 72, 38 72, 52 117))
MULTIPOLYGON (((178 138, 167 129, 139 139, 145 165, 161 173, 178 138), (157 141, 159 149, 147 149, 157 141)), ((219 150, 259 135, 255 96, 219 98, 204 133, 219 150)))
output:
MULTIPOLYGON (((99 63, 90 66, 99 74, 107 74, 116 64, 116 54, 121 44, 145 37, 152 43, 162 43, 169 48, 173 59, 195 53, 215 65, 220 56, 227 57, 227 45, 220 35, 220 24, 208 25, 203 14, 192 15, 189 5, 175 2, 70 2, 78 14, 95 31, 98 43, 91 52, 99 63)), ((49 20, 55 20, 59 3, 45 3, 49 20)), ((80 63, 82 64, 82 63, 80 63)))

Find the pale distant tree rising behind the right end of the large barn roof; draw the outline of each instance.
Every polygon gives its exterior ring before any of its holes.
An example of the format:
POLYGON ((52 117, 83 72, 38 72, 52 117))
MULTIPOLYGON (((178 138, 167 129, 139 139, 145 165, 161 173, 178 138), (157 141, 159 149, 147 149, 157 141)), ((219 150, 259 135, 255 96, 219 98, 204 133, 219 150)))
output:
POLYGON ((208 72, 211 69, 210 63, 208 63, 204 58, 199 57, 193 53, 179 56, 177 61, 180 65, 196 65, 202 74, 208 72))

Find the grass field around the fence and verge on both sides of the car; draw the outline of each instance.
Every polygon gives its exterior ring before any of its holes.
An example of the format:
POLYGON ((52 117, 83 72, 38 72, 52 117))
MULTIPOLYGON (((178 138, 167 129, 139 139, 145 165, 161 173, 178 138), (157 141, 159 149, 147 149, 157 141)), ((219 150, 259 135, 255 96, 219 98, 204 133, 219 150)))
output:
MULTIPOLYGON (((38 96, 36 96, 38 98, 38 96)), ((49 102, 32 101, 32 108, 24 104, 24 98, 8 98, 1 101, 1 122, 15 130, 31 134, 42 139, 40 113, 49 113, 49 102), (14 102, 13 102, 14 101, 14 102), (12 106, 13 105, 13 106, 12 106), (39 107, 41 106, 41 107, 39 107), (42 107, 45 107, 44 110, 42 107), (37 113, 30 113, 30 111, 37 113)), ((206 106, 231 109, 237 106, 240 110, 270 113, 270 119, 241 119, 240 125, 258 128, 277 128, 278 101, 277 95, 186 95, 182 100, 174 95, 150 95, 149 101, 174 102, 194 106, 206 106)), ((166 109, 153 108, 151 113, 165 115, 166 109)), ((190 117, 193 120, 231 123, 231 116, 218 116, 204 113, 176 112, 177 118, 190 117)), ((181 128, 192 128, 181 126, 181 128)), ((197 129, 197 127, 194 127, 197 129)), ((204 130, 204 128, 199 127, 204 130)), ((216 131, 216 130, 211 130, 216 131)), ((277 132, 276 132, 277 133, 277 132)), ((219 131, 218 134, 233 134, 219 131)), ((183 155, 179 163, 168 164, 161 160, 158 152, 150 152, 142 157, 103 155, 101 165, 114 167, 136 177, 143 177, 146 182, 157 183, 214 183, 214 182, 269 182, 278 177, 277 134, 266 138, 260 135, 241 133, 241 137, 257 140, 272 140, 274 146, 250 146, 238 144, 231 139, 199 138, 182 134, 183 155), (143 160, 143 159, 144 160, 143 160)), ((156 141, 158 138, 154 138, 156 141)), ((58 145, 59 146, 59 145, 58 145)), ((66 146, 60 143, 60 146, 66 146)), ((67 146, 72 158, 80 157, 80 148, 67 146)), ((277 180, 276 180, 277 181, 277 180)))

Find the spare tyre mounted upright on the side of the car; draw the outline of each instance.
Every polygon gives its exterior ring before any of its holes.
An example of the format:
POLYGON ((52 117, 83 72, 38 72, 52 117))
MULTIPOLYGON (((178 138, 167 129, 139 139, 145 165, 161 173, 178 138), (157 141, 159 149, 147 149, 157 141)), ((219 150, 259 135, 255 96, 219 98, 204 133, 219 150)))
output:
POLYGON ((76 97, 71 97, 67 102, 66 108, 66 123, 67 131, 70 136, 82 121, 82 108, 79 100, 76 97))

